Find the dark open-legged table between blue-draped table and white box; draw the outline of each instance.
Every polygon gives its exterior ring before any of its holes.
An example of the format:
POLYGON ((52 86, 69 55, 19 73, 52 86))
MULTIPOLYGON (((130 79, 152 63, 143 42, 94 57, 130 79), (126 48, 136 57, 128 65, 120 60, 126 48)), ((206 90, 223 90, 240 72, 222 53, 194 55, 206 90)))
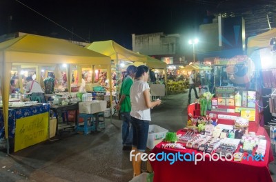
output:
MULTIPOLYGON (((50 106, 50 110, 55 112, 57 119, 59 118, 59 116, 61 116, 62 113, 66 113, 70 110, 75 111, 75 113, 76 113, 75 125, 77 125, 77 114, 78 114, 78 110, 79 110, 79 103, 73 103, 73 104, 70 104, 70 105, 54 105, 53 104, 53 105, 50 106)), ((74 126, 68 126, 68 128, 71 128, 72 130, 74 130, 75 125, 74 126)), ((57 122, 56 133, 59 134, 59 122, 57 122)))

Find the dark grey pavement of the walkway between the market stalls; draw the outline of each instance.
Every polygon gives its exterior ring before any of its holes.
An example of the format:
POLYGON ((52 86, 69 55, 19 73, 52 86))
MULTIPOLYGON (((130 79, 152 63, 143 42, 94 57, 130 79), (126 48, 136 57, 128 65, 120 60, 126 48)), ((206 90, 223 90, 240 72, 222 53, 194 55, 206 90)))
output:
MULTIPOLYGON (((170 132, 183 128, 188 94, 172 94, 161 100, 152 110, 151 124, 170 132)), ((10 156, 5 150, 0 152, 0 181, 130 181, 129 152, 121 148, 121 121, 115 116, 112 123, 106 119, 106 129, 94 134, 64 133, 10 156)), ((270 170, 276 173, 275 169, 276 163, 271 163, 270 170)))

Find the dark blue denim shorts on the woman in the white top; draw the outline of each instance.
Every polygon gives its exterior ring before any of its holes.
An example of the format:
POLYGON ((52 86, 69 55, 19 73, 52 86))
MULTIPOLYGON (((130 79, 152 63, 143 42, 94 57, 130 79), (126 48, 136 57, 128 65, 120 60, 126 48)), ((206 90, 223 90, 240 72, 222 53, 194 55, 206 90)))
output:
POLYGON ((139 152, 145 152, 146 143, 148 141, 148 128, 150 121, 136 119, 131 117, 133 125, 133 141, 132 146, 137 148, 139 152))

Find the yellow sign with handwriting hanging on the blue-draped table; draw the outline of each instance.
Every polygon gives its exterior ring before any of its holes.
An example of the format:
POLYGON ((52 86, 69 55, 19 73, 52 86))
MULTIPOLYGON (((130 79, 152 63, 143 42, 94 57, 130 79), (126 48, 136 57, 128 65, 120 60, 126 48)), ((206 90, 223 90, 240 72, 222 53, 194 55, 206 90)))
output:
POLYGON ((49 112, 17 119, 14 152, 48 139, 49 112))

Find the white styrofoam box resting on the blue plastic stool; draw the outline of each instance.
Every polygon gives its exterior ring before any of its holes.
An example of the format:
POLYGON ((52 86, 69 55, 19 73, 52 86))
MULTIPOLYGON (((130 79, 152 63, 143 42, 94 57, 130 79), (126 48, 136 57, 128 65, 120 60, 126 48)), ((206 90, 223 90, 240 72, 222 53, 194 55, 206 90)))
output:
POLYGON ((94 100, 79 102, 79 113, 95 114, 106 110, 106 101, 94 100))

